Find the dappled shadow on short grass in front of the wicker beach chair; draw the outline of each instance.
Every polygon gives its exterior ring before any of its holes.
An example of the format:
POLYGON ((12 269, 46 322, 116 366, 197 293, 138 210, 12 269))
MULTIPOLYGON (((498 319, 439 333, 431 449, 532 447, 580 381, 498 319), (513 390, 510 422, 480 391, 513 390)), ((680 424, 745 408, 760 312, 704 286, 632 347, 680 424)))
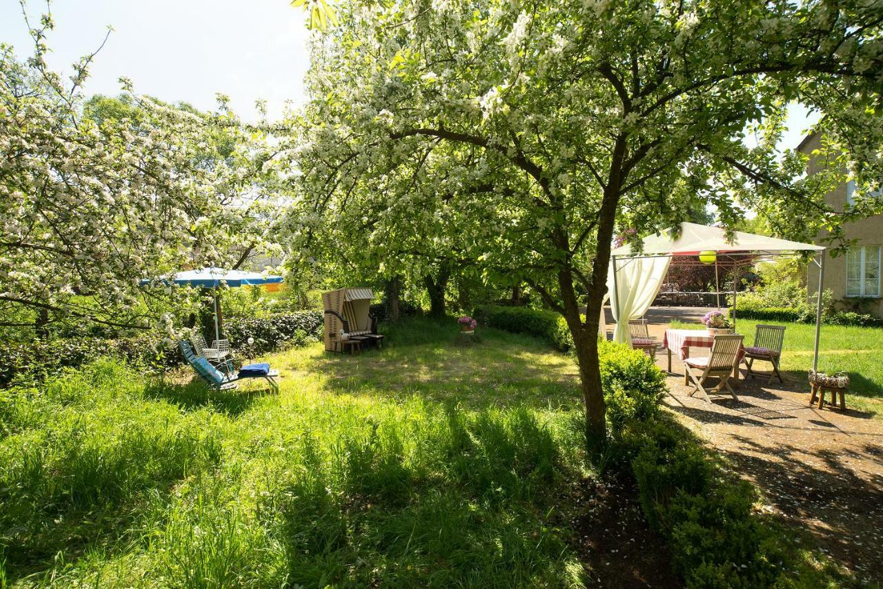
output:
POLYGON ((389 326, 386 336, 379 351, 325 352, 305 369, 325 374, 328 389, 338 393, 419 395, 470 409, 526 404, 566 411, 582 399, 572 359, 532 337, 484 328, 479 344, 462 347, 455 344, 452 318, 405 320, 389 326))

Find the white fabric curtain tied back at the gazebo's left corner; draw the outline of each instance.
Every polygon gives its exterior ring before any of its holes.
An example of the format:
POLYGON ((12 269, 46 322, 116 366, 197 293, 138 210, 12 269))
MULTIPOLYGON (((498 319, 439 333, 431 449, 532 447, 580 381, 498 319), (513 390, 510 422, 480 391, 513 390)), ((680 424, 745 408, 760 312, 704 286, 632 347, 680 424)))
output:
POLYGON ((668 272, 671 256, 616 260, 615 283, 613 262, 611 259, 608 268, 608 294, 616 321, 613 341, 631 344, 629 321, 643 317, 653 305, 668 272))

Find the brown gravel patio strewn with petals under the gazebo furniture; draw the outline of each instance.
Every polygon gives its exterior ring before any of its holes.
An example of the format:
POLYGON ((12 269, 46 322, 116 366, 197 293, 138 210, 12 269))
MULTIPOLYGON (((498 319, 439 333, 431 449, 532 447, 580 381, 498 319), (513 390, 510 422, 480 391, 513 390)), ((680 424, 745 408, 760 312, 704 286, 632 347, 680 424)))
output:
MULTIPOLYGON (((657 364, 666 368, 664 353, 657 364)), ((737 402, 708 404, 688 395, 680 360, 672 365, 665 404, 761 489, 776 516, 811 533, 857 578, 883 581, 883 420, 810 406, 809 385, 787 377, 740 381, 737 402)))

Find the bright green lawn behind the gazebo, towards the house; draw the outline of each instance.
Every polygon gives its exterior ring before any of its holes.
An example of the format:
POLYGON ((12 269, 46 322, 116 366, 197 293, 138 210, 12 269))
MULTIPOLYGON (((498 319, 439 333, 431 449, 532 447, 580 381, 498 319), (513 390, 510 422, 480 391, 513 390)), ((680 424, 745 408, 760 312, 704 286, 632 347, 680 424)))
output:
MULTIPOLYGON (((805 382, 807 371, 812 367, 815 325, 736 319, 737 331, 745 335, 746 345, 753 343, 754 328, 758 322, 786 326, 781 367, 794 381, 805 382)), ((697 323, 680 322, 676 325, 673 323, 672 327, 703 328, 697 323)), ((758 366, 766 370, 764 363, 758 366)), ((883 329, 823 325, 819 341, 819 370, 848 372, 848 403, 851 398, 853 406, 883 416, 883 329)))

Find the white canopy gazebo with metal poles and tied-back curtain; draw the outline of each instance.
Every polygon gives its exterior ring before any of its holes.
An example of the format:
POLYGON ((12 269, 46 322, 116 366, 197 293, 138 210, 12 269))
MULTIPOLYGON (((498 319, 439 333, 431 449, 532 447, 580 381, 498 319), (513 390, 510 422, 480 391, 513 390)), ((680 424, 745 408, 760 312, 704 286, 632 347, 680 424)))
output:
MULTIPOLYGON (((763 235, 736 231, 730 240, 719 227, 697 223, 681 223, 680 237, 673 230, 664 230, 642 240, 642 251, 633 251, 630 245, 615 248, 610 253, 608 293, 616 328, 614 341, 629 344, 629 321, 643 317, 660 291, 668 273, 668 264, 674 257, 697 258, 714 253, 715 264, 736 269, 751 266, 758 261, 801 255, 812 252, 812 262, 819 268, 819 294, 816 305, 816 340, 812 358, 813 370, 819 367, 819 327, 821 325, 821 284, 825 276, 825 248, 788 239, 767 238, 763 235), (620 318, 622 317, 622 321, 620 318)), ((733 281, 733 315, 736 318, 736 279, 733 281)))

